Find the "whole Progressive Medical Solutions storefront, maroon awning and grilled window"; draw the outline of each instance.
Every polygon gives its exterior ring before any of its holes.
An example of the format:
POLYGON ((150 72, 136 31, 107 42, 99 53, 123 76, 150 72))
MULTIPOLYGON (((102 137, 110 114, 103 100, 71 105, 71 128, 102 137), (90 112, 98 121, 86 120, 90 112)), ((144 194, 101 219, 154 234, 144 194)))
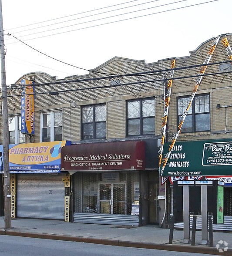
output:
POLYGON ((72 178, 73 221, 139 226, 142 201, 148 221, 145 167, 145 141, 63 147, 61 172, 70 172, 72 178))

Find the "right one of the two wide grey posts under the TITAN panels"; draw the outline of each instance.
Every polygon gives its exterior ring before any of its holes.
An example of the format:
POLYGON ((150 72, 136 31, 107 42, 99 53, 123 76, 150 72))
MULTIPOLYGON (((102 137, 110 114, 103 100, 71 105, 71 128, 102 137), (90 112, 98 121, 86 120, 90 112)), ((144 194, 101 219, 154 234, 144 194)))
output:
POLYGON ((207 214, 207 185, 201 185, 201 204, 202 204, 202 242, 206 245, 208 242, 208 214, 207 214))

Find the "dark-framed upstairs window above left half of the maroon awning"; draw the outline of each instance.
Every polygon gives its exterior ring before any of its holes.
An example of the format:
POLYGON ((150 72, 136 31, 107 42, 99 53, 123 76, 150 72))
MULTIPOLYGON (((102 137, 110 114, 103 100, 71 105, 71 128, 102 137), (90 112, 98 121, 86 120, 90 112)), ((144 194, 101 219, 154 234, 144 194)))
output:
POLYGON ((82 107, 82 139, 105 138, 105 104, 82 107))

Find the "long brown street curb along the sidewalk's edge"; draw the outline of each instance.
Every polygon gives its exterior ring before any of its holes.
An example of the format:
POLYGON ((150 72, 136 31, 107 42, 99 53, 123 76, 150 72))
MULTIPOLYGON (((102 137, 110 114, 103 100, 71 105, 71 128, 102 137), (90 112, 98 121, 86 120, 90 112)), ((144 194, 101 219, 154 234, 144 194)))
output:
POLYGON ((174 245, 174 244, 141 243, 141 242, 131 242, 131 241, 110 240, 110 239, 87 238, 87 237, 80 237, 80 236, 65 236, 65 235, 54 235, 54 234, 43 234, 43 233, 30 233, 30 232, 20 232, 20 231, 10 231, 10 230, 0 230, 0 235, 23 236, 23 237, 31 237, 31 238, 62 240, 62 241, 80 242, 80 243, 96 243, 96 244, 104 244, 104 245, 111 245, 111 246, 157 249, 157 250, 186 252, 186 253, 232 255, 232 249, 228 249, 228 251, 226 251, 226 252, 219 253, 218 249, 212 248, 212 247, 200 247, 200 246, 196 247, 196 246, 185 246, 185 245, 174 245))

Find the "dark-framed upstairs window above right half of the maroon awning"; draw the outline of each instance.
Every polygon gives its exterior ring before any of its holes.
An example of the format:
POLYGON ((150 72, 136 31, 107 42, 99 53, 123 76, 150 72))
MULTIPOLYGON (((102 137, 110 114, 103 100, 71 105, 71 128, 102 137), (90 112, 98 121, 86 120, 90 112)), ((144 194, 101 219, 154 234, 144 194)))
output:
POLYGON ((127 102, 127 135, 155 133, 155 99, 127 102))

